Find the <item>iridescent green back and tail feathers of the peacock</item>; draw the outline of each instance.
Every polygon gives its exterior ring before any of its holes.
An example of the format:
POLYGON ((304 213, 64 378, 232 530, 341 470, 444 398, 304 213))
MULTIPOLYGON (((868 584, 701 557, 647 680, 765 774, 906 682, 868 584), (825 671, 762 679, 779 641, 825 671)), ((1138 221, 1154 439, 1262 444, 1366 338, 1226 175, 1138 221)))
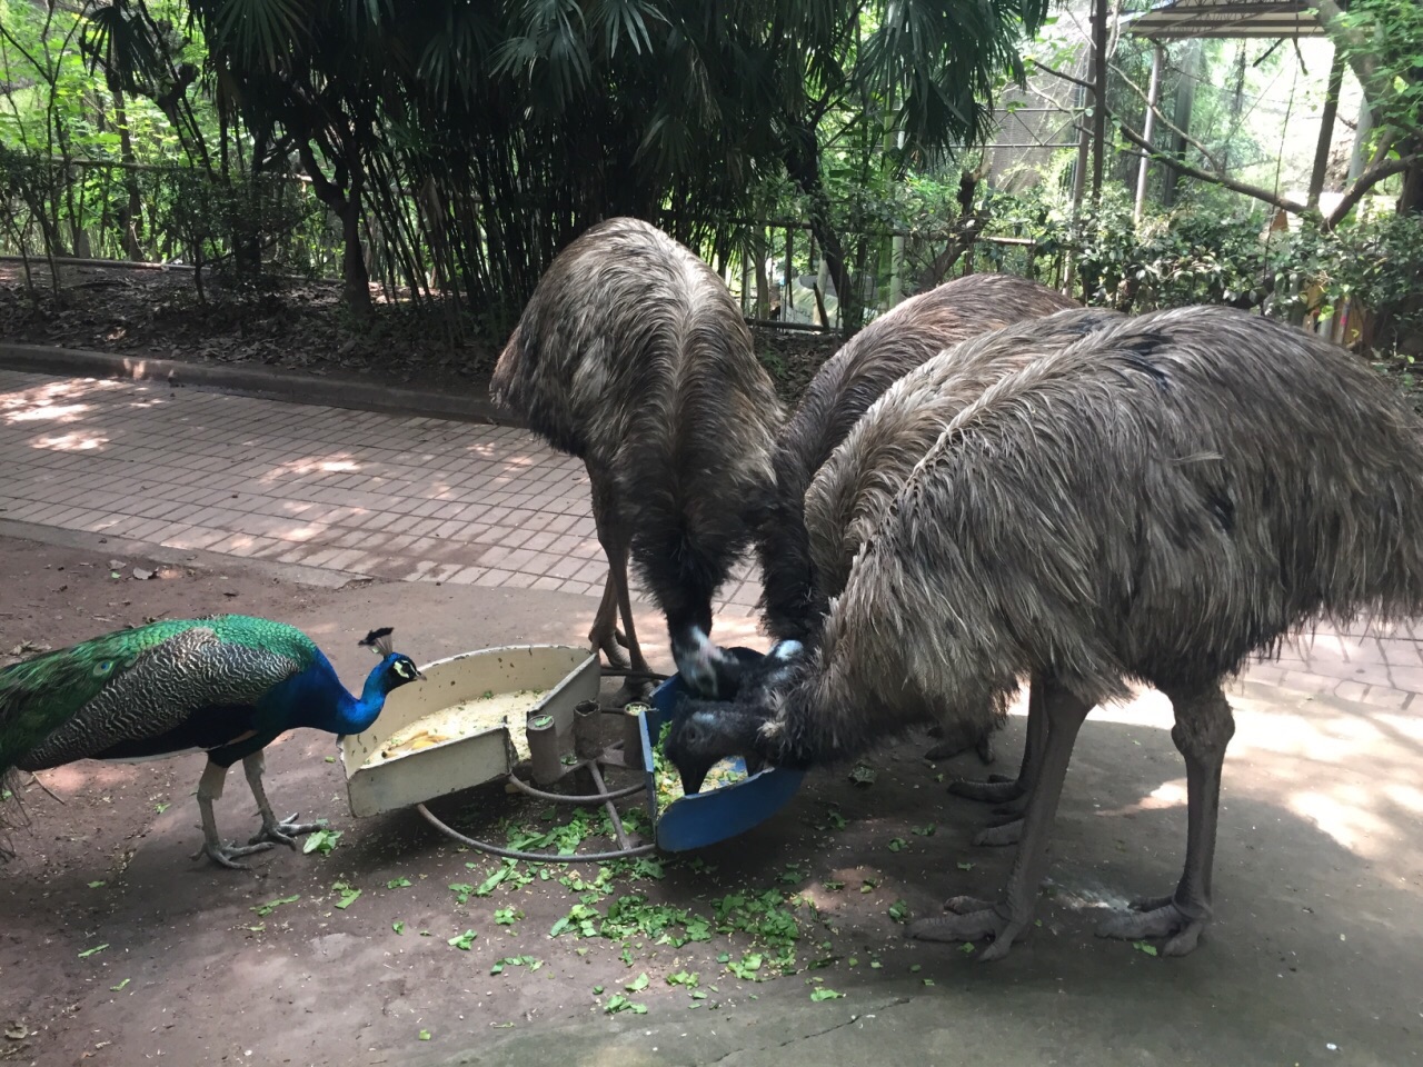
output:
POLYGON ((286 623, 218 615, 135 626, 0 669, 0 777, 80 714, 141 656, 199 627, 225 644, 283 656, 299 670, 316 657, 312 640, 286 623))

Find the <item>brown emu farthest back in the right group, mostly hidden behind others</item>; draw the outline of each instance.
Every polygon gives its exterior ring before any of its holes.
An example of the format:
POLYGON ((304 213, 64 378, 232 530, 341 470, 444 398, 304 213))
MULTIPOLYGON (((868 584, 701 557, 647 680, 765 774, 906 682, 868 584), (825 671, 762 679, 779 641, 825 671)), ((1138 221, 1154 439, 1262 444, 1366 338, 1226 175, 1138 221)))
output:
POLYGON ((825 361, 776 438, 776 499, 757 535, 763 615, 776 640, 818 635, 824 602, 838 592, 817 596, 803 501, 867 408, 896 378, 962 340, 1076 306, 1022 277, 969 275, 898 304, 825 361))

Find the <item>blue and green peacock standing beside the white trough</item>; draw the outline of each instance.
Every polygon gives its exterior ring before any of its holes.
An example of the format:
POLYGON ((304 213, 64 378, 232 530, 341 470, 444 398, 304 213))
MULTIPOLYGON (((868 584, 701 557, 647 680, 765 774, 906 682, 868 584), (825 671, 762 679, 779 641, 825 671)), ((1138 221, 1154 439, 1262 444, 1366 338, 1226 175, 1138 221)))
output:
POLYGON ((0 670, 0 781, 74 760, 154 760, 205 751, 198 781, 203 846, 222 866, 276 844, 296 845, 319 822, 277 819, 262 787, 262 750, 287 730, 367 730, 386 696, 424 677, 391 647, 391 629, 360 644, 381 659, 360 697, 346 691, 330 660, 295 626, 246 615, 169 619, 135 626, 0 670), (262 812, 246 845, 218 838, 212 802, 242 760, 262 812))

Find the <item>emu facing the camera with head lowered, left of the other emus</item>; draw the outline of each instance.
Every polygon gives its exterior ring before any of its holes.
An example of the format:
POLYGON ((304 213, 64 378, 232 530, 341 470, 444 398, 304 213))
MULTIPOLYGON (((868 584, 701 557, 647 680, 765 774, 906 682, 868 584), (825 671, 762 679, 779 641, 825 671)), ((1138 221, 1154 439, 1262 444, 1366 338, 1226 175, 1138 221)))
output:
POLYGON ((667 617, 683 677, 707 696, 736 691, 736 662, 712 644, 712 596, 771 494, 781 407, 751 334, 700 259, 636 219, 609 219, 569 245, 539 280, 490 386, 592 482, 608 555, 588 635, 635 671, 628 556, 667 617))

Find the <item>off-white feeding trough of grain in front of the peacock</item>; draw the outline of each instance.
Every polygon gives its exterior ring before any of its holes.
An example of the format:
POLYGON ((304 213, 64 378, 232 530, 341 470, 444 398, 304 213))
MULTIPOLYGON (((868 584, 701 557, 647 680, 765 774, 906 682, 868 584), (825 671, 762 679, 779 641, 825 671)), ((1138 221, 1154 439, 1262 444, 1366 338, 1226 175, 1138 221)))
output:
POLYGON ((568 644, 465 652, 420 669, 370 730, 342 738, 356 817, 423 804, 508 775, 528 758, 525 730, 573 728, 573 707, 598 699, 596 656, 568 644), (546 716, 552 723, 544 718, 546 716))

